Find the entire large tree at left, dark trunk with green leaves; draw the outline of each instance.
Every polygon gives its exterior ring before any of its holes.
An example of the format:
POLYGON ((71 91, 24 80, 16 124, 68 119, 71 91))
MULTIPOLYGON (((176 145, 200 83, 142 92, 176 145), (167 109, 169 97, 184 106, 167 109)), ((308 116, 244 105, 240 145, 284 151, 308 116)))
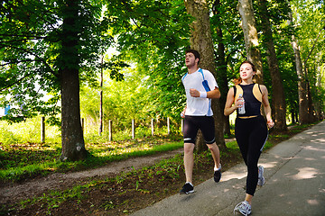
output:
POLYGON ((101 37, 107 28, 99 21, 101 8, 79 0, 11 0, 2 6, 1 70, 6 73, 0 84, 2 103, 21 105, 8 118, 40 113, 55 116, 61 108, 60 159, 85 158, 79 81, 94 81, 98 48, 110 43, 109 37, 101 37), (45 93, 54 97, 44 102, 45 93))

